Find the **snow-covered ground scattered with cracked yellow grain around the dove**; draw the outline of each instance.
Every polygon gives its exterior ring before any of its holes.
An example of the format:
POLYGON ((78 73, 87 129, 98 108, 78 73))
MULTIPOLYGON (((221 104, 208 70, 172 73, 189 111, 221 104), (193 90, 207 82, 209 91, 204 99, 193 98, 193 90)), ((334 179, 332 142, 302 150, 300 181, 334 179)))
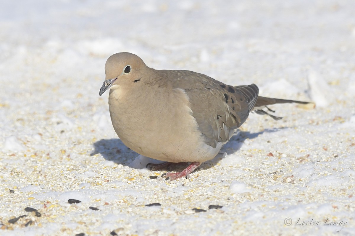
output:
POLYGON ((354 235, 355 1, 0 4, 0 235, 354 235), (190 179, 164 182, 99 97, 124 51, 317 107, 252 114, 190 179))

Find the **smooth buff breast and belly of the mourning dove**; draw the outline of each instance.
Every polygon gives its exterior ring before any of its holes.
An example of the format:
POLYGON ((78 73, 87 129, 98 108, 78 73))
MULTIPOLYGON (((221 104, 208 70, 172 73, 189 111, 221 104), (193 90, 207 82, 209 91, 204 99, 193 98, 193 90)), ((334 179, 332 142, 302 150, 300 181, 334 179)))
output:
POLYGON ((145 89, 110 91, 111 121, 127 147, 169 162, 203 162, 218 154, 222 143, 216 148, 205 143, 183 89, 159 86, 145 89))

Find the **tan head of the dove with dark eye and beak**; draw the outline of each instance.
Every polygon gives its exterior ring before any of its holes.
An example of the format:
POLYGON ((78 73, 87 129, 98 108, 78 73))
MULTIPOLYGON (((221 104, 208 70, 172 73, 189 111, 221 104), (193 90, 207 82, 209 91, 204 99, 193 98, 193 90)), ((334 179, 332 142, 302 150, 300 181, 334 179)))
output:
POLYGON ((141 82, 149 67, 140 57, 129 52, 119 52, 110 56, 105 64, 105 81, 100 88, 100 96, 108 89, 115 90, 132 83, 141 82))

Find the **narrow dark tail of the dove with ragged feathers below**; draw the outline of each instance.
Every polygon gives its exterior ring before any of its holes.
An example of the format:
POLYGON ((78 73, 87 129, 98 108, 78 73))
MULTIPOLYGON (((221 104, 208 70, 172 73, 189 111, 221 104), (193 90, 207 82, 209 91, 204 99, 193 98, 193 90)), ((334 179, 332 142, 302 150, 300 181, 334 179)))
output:
POLYGON ((258 99, 256 100, 256 103, 255 103, 252 111, 254 111, 256 114, 259 114, 259 115, 268 115, 268 116, 272 117, 274 120, 280 120, 280 119, 282 119, 282 117, 274 116, 274 115, 268 113, 268 111, 271 111, 271 112, 275 112, 275 111, 271 110, 270 108, 267 107, 267 105, 279 104, 279 103, 308 104, 310 102, 302 102, 302 101, 278 99, 278 98, 266 98, 266 97, 258 96, 258 99), (267 111, 263 110, 264 108, 266 108, 267 111))

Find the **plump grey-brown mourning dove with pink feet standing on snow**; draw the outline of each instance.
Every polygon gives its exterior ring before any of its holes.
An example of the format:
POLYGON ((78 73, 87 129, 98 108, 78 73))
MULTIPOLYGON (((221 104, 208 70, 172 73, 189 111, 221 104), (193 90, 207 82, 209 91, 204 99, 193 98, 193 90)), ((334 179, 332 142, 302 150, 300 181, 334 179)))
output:
MULTIPOLYGON (((258 96, 255 84, 230 86, 188 70, 155 70, 128 52, 105 64, 100 96, 109 93, 112 125, 121 141, 137 153, 170 163, 190 162, 165 180, 188 177, 202 162, 213 159, 249 113, 275 103, 303 103, 258 96)), ((266 107, 268 111, 272 111, 266 107)))

